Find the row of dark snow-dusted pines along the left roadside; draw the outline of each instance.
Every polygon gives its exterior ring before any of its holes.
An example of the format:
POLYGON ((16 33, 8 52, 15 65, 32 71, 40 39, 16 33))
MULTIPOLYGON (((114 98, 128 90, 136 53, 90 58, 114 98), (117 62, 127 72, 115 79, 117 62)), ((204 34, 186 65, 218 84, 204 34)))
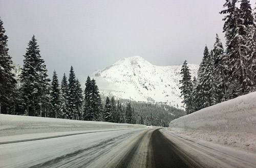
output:
POLYGON ((131 103, 116 103, 106 97, 101 103, 96 81, 89 76, 84 92, 71 66, 61 83, 54 70, 52 80, 47 75, 37 40, 33 35, 24 55, 22 72, 15 79, 13 62, 8 54, 8 37, 0 19, 0 113, 72 120, 135 123, 131 103))

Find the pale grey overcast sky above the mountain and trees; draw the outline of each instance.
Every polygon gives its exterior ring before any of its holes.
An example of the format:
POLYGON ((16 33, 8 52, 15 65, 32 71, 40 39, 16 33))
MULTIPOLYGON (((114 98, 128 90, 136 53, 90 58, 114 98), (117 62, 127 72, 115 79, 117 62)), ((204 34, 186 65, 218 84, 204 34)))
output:
MULTIPOLYGON (((33 34, 49 75, 59 79, 73 65, 87 75, 116 61, 140 55, 154 65, 199 64, 205 45, 222 33, 225 0, 168 1, 2 1, 0 17, 9 54, 23 64, 33 34)), ((255 0, 250 1, 252 6, 255 0)))

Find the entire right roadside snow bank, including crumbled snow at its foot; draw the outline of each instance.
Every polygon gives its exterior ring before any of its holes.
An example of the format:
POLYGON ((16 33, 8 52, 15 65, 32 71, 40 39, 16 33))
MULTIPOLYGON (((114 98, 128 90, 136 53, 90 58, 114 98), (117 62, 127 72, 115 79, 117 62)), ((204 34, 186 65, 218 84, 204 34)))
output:
POLYGON ((256 92, 210 106, 169 123, 169 130, 256 153, 256 92))

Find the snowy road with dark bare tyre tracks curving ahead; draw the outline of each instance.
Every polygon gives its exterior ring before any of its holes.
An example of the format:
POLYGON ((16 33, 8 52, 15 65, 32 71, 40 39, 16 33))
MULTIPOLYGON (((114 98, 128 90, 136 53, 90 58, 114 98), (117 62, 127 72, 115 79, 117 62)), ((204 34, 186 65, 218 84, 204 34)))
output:
POLYGON ((0 167, 254 167, 255 155, 165 129, 125 129, 0 145, 0 167), (242 153, 240 153, 242 152, 242 153))

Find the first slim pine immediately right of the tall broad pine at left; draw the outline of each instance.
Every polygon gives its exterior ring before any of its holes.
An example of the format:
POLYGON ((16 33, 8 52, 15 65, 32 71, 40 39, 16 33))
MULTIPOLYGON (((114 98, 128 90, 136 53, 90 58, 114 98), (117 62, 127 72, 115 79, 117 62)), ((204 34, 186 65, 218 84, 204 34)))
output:
POLYGON ((51 85, 51 92, 50 92, 50 103, 51 103, 51 110, 49 113, 49 117, 51 118, 61 118, 59 115, 59 81, 57 77, 57 73, 54 70, 52 76, 52 85, 51 85))

